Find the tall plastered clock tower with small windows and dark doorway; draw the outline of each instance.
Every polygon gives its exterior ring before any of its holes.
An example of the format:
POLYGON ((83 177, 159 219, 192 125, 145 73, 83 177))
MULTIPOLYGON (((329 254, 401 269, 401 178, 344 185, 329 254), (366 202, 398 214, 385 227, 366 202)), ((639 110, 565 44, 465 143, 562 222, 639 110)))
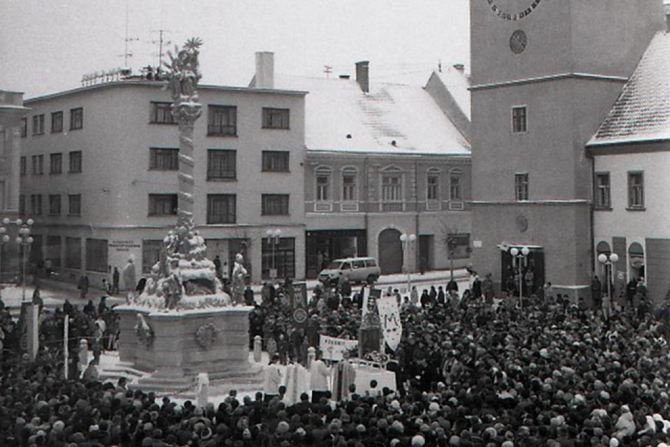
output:
POLYGON ((584 146, 664 29, 662 0, 470 0, 470 23, 474 268, 588 298, 584 146))

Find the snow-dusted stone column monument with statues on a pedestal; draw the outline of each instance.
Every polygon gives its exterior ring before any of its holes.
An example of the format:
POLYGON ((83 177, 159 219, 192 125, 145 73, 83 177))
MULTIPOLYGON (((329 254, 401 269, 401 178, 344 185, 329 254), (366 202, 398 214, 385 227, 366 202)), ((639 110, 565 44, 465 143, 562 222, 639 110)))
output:
MULTIPOLYGON (((248 361, 248 313, 233 303, 206 256, 193 221, 193 128, 201 114, 198 54, 202 41, 175 47, 168 71, 172 116, 179 124, 177 226, 163 240, 144 292, 115 310, 121 316, 119 367, 149 372, 131 386, 170 392, 192 389, 199 374, 209 380, 262 381, 262 368, 248 361)), ((238 255, 236 268, 244 270, 238 255), (238 266, 239 263, 239 266, 238 266)), ((246 272, 246 270, 244 270, 246 272)), ((244 273, 246 274, 246 273, 244 273)))

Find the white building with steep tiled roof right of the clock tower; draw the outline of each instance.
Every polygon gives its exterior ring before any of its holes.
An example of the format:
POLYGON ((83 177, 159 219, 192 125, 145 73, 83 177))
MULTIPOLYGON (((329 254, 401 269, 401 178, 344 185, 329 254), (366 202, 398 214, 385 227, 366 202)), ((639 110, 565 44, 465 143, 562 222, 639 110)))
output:
MULTIPOLYGON (((615 296, 643 278, 660 304, 670 288, 670 36, 653 38, 600 129, 594 161, 594 254, 618 255, 615 296)), ((606 265, 595 263, 606 284, 606 265)), ((623 297, 622 297, 623 298, 623 297)))

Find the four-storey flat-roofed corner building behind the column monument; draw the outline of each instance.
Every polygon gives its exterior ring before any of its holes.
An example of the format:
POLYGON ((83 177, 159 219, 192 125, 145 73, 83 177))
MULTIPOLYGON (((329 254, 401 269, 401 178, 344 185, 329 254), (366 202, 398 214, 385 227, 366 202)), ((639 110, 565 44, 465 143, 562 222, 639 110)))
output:
MULTIPOLYGON (((121 80, 27 101, 21 212, 32 261, 100 285, 135 258, 149 272, 177 219, 179 140, 161 82, 121 80)), ((195 212, 222 270, 241 252, 255 281, 304 272, 304 95, 201 86, 195 212), (275 237, 277 230, 281 236, 275 237), (270 235, 270 237, 268 237, 270 235)), ((137 274, 140 274, 138 271, 137 274)))

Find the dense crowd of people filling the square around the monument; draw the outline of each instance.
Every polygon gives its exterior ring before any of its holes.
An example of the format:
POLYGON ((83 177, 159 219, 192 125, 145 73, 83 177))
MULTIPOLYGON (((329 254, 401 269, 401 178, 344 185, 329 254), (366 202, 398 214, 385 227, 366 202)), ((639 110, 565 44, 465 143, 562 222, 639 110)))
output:
MULTIPOLYGON (((271 358, 306 362, 306 347, 318 346, 320 335, 355 338, 362 293, 341 286, 315 290, 308 302, 308 323, 300 328, 293 323, 283 286, 267 284, 250 315, 250 342, 260 335, 271 358)), ((305 393, 299 402, 289 402, 281 387, 270 399, 262 393, 238 399, 231 392, 223 402, 198 408, 190 401, 130 391, 123 380, 66 380, 58 347, 48 343, 35 362, 20 349, 6 349, 0 445, 670 443, 667 305, 656 314, 632 308, 608 313, 545 296, 519 308, 514 302, 491 302, 486 293, 476 298, 466 293, 463 300, 449 284, 442 292, 439 287, 434 294, 428 289, 406 297, 394 290, 383 292, 395 295, 401 305, 403 336, 397 351, 390 353, 397 363, 396 390, 352 386, 339 401, 320 390, 317 400, 305 393), (419 298, 424 295, 428 298, 419 298)), ((245 296, 253 303, 253 293, 245 296)), ((81 322, 76 325, 82 334, 95 334, 98 314, 104 321, 108 311, 104 303, 102 311, 92 310, 59 310, 52 323, 43 323, 43 330, 56 328, 51 330, 57 333, 57 315, 71 312, 73 321, 81 322)))

